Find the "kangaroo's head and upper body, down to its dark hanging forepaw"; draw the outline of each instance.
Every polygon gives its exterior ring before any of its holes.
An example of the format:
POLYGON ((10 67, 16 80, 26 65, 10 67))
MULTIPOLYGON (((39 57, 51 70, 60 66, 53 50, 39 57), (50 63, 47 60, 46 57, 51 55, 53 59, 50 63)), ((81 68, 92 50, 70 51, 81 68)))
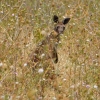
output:
POLYGON ((57 46, 59 44, 60 35, 63 34, 69 20, 70 18, 65 18, 60 22, 58 16, 53 16, 53 21, 56 23, 53 31, 37 45, 30 55, 33 69, 35 69, 36 66, 40 66, 41 68, 47 65, 50 60, 53 63, 58 62, 57 46))

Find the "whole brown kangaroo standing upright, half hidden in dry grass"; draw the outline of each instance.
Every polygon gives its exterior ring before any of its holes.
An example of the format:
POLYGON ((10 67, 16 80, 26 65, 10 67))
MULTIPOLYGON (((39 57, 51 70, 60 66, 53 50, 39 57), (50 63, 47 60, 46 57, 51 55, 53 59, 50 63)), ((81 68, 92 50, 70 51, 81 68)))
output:
POLYGON ((53 21, 56 23, 54 30, 36 46, 30 55, 30 63, 36 78, 35 82, 39 95, 44 95, 46 85, 54 84, 56 79, 54 63, 58 62, 57 46, 60 41, 60 35, 63 34, 65 25, 69 20, 70 18, 65 18, 62 22, 59 22, 58 17, 55 15, 53 17, 53 21), (41 79, 45 79, 45 81, 40 81, 41 79))

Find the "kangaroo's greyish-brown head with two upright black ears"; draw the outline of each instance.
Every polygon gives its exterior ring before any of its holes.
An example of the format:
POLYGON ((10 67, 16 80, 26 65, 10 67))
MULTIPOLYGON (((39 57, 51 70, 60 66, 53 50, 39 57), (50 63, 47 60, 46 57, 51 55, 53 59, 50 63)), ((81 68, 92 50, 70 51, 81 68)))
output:
POLYGON ((58 35, 62 34, 65 30, 66 24, 69 22, 70 18, 65 18, 63 21, 59 22, 58 16, 53 16, 53 21, 56 23, 54 30, 58 35))

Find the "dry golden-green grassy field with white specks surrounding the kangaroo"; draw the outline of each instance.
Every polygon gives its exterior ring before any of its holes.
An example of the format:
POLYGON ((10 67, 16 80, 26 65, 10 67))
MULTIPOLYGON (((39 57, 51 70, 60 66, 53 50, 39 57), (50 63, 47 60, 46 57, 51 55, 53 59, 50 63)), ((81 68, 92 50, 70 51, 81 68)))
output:
POLYGON ((35 100, 27 62, 52 31, 53 15, 71 20, 54 65, 61 92, 46 87, 43 100, 100 100, 99 0, 0 0, 0 100, 35 100))

